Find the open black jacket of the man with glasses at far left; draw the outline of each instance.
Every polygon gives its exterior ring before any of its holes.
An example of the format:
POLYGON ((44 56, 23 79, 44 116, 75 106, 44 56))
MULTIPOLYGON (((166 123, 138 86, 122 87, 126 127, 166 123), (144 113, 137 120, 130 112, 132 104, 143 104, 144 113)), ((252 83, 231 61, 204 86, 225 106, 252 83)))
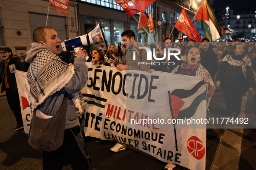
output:
MULTIPOLYGON (((18 92, 18 88, 17 88, 15 74, 10 72, 9 65, 11 64, 15 64, 16 70, 19 70, 19 71, 26 72, 26 68, 24 64, 22 64, 22 62, 20 62, 17 58, 10 58, 10 61, 8 62, 7 80, 10 86, 11 93, 15 93, 15 92, 18 92)), ((5 83, 4 83, 4 67, 5 67, 5 62, 1 61, 0 62, 0 74, 1 74, 0 84, 2 83, 1 93, 6 90, 5 83)))

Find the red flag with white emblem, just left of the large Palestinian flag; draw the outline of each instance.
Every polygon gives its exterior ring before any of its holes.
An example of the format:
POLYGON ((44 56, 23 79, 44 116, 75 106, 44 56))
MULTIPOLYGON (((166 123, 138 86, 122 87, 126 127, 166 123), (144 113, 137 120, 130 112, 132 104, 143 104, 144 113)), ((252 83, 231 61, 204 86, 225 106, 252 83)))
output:
POLYGON ((195 29, 194 24, 189 19, 188 14, 186 13, 184 7, 181 10, 181 14, 178 17, 177 22, 175 23, 175 27, 184 34, 187 34, 188 37, 192 40, 196 42, 201 42, 201 36, 195 29))

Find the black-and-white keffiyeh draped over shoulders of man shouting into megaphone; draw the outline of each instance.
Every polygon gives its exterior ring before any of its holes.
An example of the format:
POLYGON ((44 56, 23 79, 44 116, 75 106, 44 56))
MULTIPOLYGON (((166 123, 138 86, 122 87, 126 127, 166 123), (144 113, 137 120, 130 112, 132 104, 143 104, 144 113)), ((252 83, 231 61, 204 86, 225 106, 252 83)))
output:
MULTIPOLYGON (((69 66, 51 51, 38 52, 30 64, 25 83, 31 111, 65 87, 74 74, 74 65, 69 66)), ((81 113, 81 92, 69 95, 75 111, 81 113)))

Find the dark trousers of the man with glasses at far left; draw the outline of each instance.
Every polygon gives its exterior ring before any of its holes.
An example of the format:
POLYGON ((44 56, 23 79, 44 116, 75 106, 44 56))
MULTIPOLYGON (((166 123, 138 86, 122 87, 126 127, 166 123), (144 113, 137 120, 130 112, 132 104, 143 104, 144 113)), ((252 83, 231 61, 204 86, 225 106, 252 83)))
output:
POLYGON ((13 111, 13 114, 16 117, 17 125, 23 125, 21 109, 19 104, 19 93, 11 93, 10 89, 6 89, 5 92, 10 109, 13 111))

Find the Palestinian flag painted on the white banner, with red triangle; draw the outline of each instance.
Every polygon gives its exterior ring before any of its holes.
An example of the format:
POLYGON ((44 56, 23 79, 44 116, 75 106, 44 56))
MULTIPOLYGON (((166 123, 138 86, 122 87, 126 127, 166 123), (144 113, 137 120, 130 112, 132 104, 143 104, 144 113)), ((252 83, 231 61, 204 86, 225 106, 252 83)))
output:
POLYGON ((194 115, 199 104, 206 99, 207 90, 201 94, 196 93, 204 84, 202 80, 190 90, 175 89, 172 91, 169 102, 173 119, 189 119, 194 115))

